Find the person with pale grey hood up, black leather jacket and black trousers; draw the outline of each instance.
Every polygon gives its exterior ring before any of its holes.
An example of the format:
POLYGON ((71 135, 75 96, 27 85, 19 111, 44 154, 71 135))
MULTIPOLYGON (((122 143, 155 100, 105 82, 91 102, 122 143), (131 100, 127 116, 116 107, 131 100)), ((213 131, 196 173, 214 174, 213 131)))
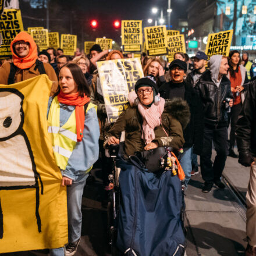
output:
POLYGON ((204 193, 210 193, 214 183, 220 189, 225 188, 225 184, 221 182, 221 175, 228 152, 227 111, 233 105, 230 81, 226 77, 229 69, 227 58, 222 55, 211 56, 208 66, 209 70, 202 74, 195 85, 204 106, 203 147, 200 157, 204 193), (213 164, 212 143, 217 153, 213 164))

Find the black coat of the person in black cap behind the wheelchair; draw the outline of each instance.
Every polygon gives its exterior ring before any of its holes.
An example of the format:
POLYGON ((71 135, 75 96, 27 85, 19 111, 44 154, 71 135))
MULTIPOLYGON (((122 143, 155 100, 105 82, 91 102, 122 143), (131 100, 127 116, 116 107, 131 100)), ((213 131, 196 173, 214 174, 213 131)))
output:
MULTIPOLYGON (((202 104, 191 84, 186 83, 186 81, 183 83, 185 89, 184 100, 189 104, 191 115, 189 124, 183 130, 185 139, 184 148, 190 148, 194 145, 194 153, 200 155, 202 150, 202 131, 204 129, 202 104)), ((172 81, 169 81, 161 86, 159 89, 161 97, 164 99, 169 98, 172 84, 172 81)), ((173 97, 176 97, 176 95, 173 95, 173 97)))

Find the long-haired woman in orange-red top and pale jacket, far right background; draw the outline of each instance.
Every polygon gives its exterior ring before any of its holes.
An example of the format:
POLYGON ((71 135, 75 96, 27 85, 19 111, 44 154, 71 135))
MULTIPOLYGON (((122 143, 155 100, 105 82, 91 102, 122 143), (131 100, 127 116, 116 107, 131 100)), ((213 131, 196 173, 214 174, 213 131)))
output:
POLYGON ((248 83, 248 79, 246 68, 243 65, 240 65, 241 58, 239 51, 230 51, 228 62, 229 72, 227 73, 227 78, 230 80, 231 91, 234 97, 234 104, 231 108, 229 117, 231 127, 229 134, 229 157, 238 158, 238 155, 234 152, 234 143, 236 141, 234 131, 244 101, 244 91, 246 90, 244 83, 248 83))

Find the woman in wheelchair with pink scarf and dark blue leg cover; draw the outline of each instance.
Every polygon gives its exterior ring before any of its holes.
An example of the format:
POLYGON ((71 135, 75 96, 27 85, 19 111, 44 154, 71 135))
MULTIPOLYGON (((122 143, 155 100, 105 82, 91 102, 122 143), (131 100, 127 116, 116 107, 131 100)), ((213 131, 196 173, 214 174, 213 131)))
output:
MULTIPOLYGON (((170 151, 179 151, 184 144, 183 129, 190 119, 189 106, 180 98, 165 101, 159 97, 152 76, 136 82, 129 103, 108 131, 104 143, 105 147, 119 144, 120 134, 125 131, 123 156, 116 161, 121 168, 116 246, 125 255, 183 255, 181 182, 175 171, 168 171, 173 168, 166 165, 161 168, 166 159, 160 161, 154 151, 164 148, 167 158, 173 160, 170 151), (142 156, 151 152, 148 158, 153 159, 151 163, 159 163, 159 170, 141 164, 144 159, 137 158, 137 152, 142 152, 142 156)), ((179 166, 179 163, 176 159, 176 163, 169 161, 168 165, 179 166)))

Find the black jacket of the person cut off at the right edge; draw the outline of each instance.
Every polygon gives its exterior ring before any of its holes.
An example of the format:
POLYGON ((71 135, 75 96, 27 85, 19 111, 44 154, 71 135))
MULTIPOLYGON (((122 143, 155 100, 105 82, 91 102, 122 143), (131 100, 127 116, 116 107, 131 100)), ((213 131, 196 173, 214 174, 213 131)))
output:
POLYGON ((246 92, 243 108, 236 126, 236 141, 239 162, 249 166, 256 157, 256 79, 252 80, 246 92))

